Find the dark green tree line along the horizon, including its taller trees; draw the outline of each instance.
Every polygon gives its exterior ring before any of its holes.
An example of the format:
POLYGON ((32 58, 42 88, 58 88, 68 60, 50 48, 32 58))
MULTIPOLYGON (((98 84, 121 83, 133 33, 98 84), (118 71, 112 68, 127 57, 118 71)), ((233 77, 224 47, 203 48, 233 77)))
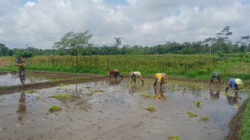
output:
MULTIPOLYGON (((231 54, 250 52, 250 36, 242 36, 240 41, 232 43, 230 26, 224 27, 215 37, 196 42, 166 42, 155 46, 120 45, 121 38, 115 38, 111 46, 97 46, 89 43, 92 35, 86 32, 68 32, 54 43, 53 49, 9 49, 0 44, 0 56, 22 55, 149 55, 149 54, 231 54)), ((76 58, 77 59, 77 58, 76 58)))

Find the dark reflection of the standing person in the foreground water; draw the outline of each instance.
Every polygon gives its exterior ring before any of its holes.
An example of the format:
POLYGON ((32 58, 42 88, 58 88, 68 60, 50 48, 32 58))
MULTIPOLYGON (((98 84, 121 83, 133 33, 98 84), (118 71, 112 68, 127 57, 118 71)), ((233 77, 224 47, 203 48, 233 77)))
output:
POLYGON ((18 106, 18 120, 21 121, 23 119, 24 114, 26 113, 26 101, 25 101, 25 93, 22 92, 20 99, 19 99, 19 106, 18 106))

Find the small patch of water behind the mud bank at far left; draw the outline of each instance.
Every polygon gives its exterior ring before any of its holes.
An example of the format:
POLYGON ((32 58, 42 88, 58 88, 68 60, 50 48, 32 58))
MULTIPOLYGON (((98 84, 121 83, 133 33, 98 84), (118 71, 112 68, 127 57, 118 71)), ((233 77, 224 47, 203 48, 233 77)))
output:
MULTIPOLYGON (((47 78, 26 74, 25 84, 33 84, 46 81, 48 81, 47 78)), ((16 74, 7 73, 0 75, 0 86, 14 86, 14 85, 21 85, 18 73, 16 74)))

